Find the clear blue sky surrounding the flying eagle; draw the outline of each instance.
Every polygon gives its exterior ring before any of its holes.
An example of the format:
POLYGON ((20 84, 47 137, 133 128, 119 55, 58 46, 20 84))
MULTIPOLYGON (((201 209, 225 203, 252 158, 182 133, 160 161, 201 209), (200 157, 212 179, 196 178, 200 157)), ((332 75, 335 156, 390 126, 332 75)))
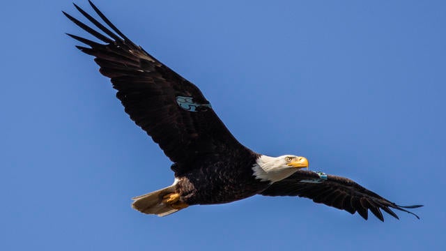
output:
POLYGON ((6 1, 0 250, 444 248, 445 1, 95 3, 249 148, 424 204, 421 220, 365 221, 295 197, 132 210, 131 197, 171 184, 171 163, 64 34, 86 35, 61 13, 81 17, 70 1, 6 1))

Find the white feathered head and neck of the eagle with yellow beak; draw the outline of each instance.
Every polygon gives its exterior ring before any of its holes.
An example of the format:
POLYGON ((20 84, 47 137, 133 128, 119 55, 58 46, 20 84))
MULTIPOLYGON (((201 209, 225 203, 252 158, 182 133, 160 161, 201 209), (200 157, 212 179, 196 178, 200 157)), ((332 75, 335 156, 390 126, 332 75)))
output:
POLYGON ((296 155, 282 155, 279 157, 260 155, 252 169, 256 178, 274 183, 282 181, 282 179, 304 167, 308 168, 308 160, 304 157, 296 155))

